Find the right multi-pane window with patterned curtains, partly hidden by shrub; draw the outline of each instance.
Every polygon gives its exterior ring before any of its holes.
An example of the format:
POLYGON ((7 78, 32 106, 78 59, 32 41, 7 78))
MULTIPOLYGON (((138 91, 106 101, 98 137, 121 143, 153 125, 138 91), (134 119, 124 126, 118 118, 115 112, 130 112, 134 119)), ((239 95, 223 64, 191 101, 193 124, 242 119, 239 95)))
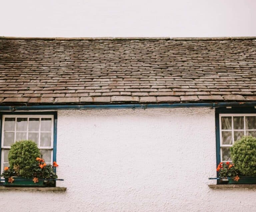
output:
POLYGON ((229 148, 242 136, 256 137, 256 114, 219 114, 220 160, 231 161, 229 148))

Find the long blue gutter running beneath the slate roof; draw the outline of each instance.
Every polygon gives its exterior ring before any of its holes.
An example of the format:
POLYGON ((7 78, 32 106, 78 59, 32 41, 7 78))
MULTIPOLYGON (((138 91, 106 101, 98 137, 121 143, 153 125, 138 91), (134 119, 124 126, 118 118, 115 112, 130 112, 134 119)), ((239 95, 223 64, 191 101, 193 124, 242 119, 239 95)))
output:
POLYGON ((217 107, 248 107, 248 106, 256 106, 256 102, 0 106, 0 111, 90 110, 90 109, 149 109, 149 108, 190 108, 190 107, 217 108, 217 107))

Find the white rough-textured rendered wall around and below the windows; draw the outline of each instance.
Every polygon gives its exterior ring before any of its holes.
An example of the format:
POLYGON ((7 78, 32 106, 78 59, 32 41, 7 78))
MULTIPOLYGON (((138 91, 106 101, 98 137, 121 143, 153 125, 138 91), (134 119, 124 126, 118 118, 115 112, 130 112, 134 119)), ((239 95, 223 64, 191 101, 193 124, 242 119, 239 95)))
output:
POLYGON ((208 180, 216 175, 214 119, 206 108, 58 111, 58 186, 67 191, 1 191, 1 208, 255 211, 255 190, 208 187, 216 183, 208 180))

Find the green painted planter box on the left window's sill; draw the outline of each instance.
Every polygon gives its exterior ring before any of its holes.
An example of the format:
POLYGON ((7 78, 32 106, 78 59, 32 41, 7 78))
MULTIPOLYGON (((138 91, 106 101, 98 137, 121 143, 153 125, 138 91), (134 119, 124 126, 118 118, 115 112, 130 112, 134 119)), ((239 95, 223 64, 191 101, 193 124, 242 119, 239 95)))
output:
POLYGON ((33 178, 24 177, 13 177, 14 181, 12 183, 8 182, 8 178, 5 178, 5 186, 25 186, 25 187, 54 187, 54 181, 48 181, 44 179, 38 179, 38 182, 34 183, 33 178))

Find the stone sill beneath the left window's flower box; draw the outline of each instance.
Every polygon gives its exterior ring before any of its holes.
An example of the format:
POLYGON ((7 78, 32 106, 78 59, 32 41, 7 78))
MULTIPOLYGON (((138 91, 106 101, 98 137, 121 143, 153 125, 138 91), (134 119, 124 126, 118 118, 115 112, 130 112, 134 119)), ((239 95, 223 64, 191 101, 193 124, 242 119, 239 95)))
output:
POLYGON ((41 192, 65 192, 66 187, 16 187, 0 186, 0 191, 41 191, 41 192))

